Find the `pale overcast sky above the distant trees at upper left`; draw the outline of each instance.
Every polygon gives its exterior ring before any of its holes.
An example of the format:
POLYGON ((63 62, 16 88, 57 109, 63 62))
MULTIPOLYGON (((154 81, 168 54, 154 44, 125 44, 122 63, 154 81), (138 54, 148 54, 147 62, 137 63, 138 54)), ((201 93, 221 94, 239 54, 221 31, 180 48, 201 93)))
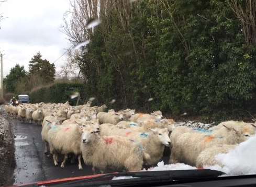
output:
MULTIPOLYGON (((0 22, 0 51, 4 55, 4 76, 16 63, 28 70, 28 62, 37 51, 52 63, 70 47, 61 30, 69 0, 7 0, 0 13, 8 17, 0 22)), ((59 68, 65 55, 55 63, 59 68)))

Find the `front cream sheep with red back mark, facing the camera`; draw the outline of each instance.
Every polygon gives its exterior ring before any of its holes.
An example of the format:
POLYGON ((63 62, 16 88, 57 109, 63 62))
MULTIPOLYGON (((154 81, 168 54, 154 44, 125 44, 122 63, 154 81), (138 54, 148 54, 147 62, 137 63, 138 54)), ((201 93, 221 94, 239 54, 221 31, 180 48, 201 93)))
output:
POLYGON ((150 158, 142 148, 121 136, 99 136, 93 126, 83 127, 81 152, 86 165, 103 173, 107 167, 117 170, 140 171, 143 159, 150 158))

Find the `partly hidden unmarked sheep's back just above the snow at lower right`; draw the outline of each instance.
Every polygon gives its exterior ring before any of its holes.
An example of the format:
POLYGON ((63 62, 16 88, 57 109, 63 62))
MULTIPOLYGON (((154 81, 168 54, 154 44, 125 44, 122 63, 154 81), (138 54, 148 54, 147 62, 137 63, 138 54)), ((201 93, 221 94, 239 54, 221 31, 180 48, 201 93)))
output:
POLYGON ((216 160, 216 156, 218 154, 226 154, 230 150, 235 149, 236 146, 237 145, 224 144, 206 148, 198 155, 196 159, 196 167, 203 168, 214 165, 219 165, 223 167, 222 164, 218 160, 216 160))

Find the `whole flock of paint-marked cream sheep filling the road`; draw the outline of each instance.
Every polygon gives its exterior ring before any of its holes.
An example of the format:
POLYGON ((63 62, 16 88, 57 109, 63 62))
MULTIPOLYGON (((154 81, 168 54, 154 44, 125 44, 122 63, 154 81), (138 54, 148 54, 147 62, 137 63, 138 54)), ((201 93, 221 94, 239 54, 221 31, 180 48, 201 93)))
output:
POLYGON ((165 147, 171 149, 170 163, 183 162, 198 168, 221 165, 216 155, 234 149, 256 131, 254 123, 227 121, 204 130, 175 126, 172 119, 163 118, 161 111, 104 112, 106 108, 91 107, 91 102, 81 106, 68 102, 5 106, 10 116, 42 125, 44 153, 52 155, 55 166, 58 155, 64 155, 61 167, 72 155, 72 159, 78 159, 79 169, 82 157, 94 172, 139 171, 143 165, 157 165, 165 147))

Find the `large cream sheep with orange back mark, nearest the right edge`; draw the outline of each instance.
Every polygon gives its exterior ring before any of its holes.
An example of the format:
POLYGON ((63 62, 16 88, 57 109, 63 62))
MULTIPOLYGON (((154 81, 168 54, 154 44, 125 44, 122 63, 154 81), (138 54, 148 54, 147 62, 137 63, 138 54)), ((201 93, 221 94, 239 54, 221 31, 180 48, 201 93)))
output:
MULTIPOLYGON (((244 133, 242 129, 220 128, 219 130, 209 131, 208 133, 198 133, 194 130, 176 133, 178 127, 171 134, 172 153, 170 163, 184 162, 195 166, 198 155, 208 147, 222 144, 239 144, 246 141, 250 134, 244 133)), ((179 131, 179 129, 178 129, 179 131)), ((251 135, 255 134, 250 131, 251 135)))

